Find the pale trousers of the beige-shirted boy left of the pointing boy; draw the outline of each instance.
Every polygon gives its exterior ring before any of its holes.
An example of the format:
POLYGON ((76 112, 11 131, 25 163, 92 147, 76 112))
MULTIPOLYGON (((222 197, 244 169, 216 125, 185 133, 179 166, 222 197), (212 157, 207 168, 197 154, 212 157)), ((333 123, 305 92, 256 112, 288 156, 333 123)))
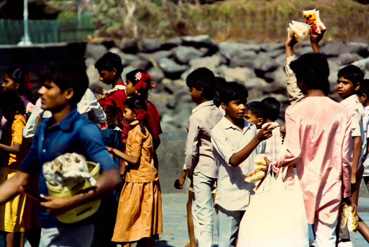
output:
POLYGON ((193 174, 194 203, 192 217, 195 239, 199 247, 211 247, 213 242, 213 201, 211 191, 217 178, 193 174), (196 222, 196 223, 195 223, 196 222))

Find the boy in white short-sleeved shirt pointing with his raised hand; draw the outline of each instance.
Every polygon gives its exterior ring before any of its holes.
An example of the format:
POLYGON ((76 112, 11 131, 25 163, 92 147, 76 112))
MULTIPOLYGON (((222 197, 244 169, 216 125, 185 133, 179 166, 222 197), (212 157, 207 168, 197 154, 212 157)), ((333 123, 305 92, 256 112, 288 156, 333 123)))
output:
POLYGON ((248 92, 245 86, 230 82, 219 95, 226 115, 211 131, 213 153, 218 166, 217 195, 218 247, 235 246, 239 222, 249 205, 253 184, 245 182, 254 171, 256 147, 272 136, 273 128, 256 126, 244 119, 248 92), (269 129, 268 129, 269 128, 269 129))

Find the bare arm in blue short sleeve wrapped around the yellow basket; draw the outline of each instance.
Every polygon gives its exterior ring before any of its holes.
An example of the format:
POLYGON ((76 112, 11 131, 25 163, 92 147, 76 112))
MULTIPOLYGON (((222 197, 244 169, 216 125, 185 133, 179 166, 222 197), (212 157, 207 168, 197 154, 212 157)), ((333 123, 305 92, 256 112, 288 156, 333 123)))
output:
POLYGON ((41 202, 40 206, 44 207, 51 215, 57 216, 79 205, 102 198, 112 192, 121 182, 122 180, 117 169, 104 171, 101 173, 100 177, 96 179, 96 189, 89 190, 86 193, 76 194, 69 198, 40 195, 48 200, 46 202, 41 202))

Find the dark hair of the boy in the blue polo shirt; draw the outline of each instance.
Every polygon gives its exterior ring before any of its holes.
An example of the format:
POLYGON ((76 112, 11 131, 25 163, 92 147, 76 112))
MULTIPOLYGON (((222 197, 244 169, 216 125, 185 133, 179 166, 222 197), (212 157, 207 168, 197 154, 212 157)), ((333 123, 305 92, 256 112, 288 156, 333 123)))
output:
POLYGON ((54 82, 61 91, 73 88, 74 95, 69 104, 75 107, 89 86, 86 64, 84 62, 63 61, 53 65, 50 71, 48 80, 54 82))

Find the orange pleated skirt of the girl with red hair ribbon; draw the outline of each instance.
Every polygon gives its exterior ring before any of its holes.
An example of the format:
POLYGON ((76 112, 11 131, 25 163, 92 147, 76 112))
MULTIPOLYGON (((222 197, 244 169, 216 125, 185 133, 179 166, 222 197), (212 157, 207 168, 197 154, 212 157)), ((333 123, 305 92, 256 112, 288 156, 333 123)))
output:
POLYGON ((134 242, 163 232, 159 181, 125 182, 119 198, 114 242, 134 242))

